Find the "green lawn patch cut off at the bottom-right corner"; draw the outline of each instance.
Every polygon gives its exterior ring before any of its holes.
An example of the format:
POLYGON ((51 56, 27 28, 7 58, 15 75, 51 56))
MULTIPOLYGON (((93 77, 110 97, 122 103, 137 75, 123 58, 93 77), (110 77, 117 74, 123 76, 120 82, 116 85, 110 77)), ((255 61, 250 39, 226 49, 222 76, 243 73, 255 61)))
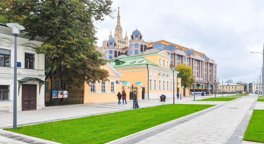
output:
POLYGON ((264 143, 264 110, 254 110, 243 140, 264 143))

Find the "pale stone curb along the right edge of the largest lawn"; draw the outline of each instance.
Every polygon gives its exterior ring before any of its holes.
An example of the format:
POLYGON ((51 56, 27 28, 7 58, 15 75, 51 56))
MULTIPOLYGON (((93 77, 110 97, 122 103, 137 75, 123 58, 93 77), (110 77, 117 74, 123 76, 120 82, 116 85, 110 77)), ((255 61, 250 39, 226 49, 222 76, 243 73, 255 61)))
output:
POLYGON ((180 121, 181 119, 187 118, 187 117, 192 116, 192 115, 195 115, 195 114, 199 114, 199 113, 201 113, 201 112, 203 112, 203 111, 207 111, 207 110, 213 109, 213 108, 215 108, 215 107, 219 107, 219 106, 221 106, 221 105, 215 105, 215 106, 209 107, 209 108, 207 108, 207 109, 204 109, 204 110, 201 110, 201 111, 197 111, 196 113, 192 113, 192 114, 189 114, 189 115, 183 116, 183 117, 181 117, 181 118, 178 118, 178 119, 175 119, 175 120, 169 121, 169 122, 167 122, 167 123, 163 123, 163 124, 157 125, 157 126, 155 126, 155 127, 151 127, 151 128, 145 129, 145 130, 143 130, 143 131, 140 131, 140 132, 137 132, 137 133, 130 134, 130 135, 128 135, 128 136, 125 136, 125 137, 119 138, 119 139, 114 140, 114 141, 111 141, 111 142, 107 142, 107 143, 105 143, 105 144, 116 143, 116 142, 119 142, 119 141, 124 140, 124 139, 126 139, 126 138, 133 137, 133 136, 135 136, 135 135, 138 135, 138 134, 141 134, 141 133, 144 133, 144 132, 150 131, 150 130, 155 130, 155 129, 159 128, 159 127, 166 126, 167 124, 170 124, 170 123, 173 123, 173 122, 176 122, 176 121, 180 121))

